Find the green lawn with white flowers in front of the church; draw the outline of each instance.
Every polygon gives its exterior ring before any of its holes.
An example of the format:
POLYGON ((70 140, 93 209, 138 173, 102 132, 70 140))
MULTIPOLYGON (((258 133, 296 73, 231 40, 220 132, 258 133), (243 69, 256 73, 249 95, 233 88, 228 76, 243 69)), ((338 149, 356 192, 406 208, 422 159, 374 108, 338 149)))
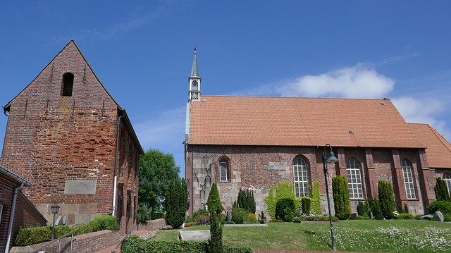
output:
MULTIPOLYGON (((416 220, 338 221, 337 249, 354 252, 451 252, 451 223, 416 220)), ((192 226, 185 230, 209 230, 192 226)), ((152 240, 178 240, 178 230, 159 230, 152 240)), ((328 222, 268 223, 224 227, 226 245, 252 249, 330 250, 328 222)))

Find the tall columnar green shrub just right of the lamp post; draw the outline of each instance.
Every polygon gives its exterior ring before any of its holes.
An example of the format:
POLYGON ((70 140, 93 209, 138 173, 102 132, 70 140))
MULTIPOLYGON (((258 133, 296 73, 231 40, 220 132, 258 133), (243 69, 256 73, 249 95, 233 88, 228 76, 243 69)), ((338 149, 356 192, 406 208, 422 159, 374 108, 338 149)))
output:
POLYGON ((333 204, 335 216, 345 220, 351 216, 350 193, 347 189, 347 179, 343 175, 335 175, 332 178, 333 204))

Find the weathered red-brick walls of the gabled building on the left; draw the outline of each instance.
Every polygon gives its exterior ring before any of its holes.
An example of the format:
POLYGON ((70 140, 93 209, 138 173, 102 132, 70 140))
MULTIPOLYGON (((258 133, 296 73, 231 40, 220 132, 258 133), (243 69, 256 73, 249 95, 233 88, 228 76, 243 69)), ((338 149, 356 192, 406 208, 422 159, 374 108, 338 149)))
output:
POLYGON ((142 147, 125 110, 75 42, 4 109, 8 125, 3 159, 30 179, 33 186, 25 195, 47 221, 54 203, 61 206, 58 216, 67 216, 70 224, 109 214, 114 204, 121 230, 135 229, 142 147), (69 94, 64 93, 66 73, 73 75, 69 94))

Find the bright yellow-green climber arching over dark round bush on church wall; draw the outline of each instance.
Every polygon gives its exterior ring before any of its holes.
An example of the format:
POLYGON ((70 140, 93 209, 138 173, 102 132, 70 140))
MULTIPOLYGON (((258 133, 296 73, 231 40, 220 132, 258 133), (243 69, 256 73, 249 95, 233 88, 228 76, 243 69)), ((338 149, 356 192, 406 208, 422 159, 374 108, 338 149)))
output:
POLYGON ((271 218, 276 218, 276 204, 279 199, 294 199, 295 187, 288 181, 280 181, 277 185, 271 185, 268 196, 265 197, 266 205, 268 206, 268 214, 271 218))

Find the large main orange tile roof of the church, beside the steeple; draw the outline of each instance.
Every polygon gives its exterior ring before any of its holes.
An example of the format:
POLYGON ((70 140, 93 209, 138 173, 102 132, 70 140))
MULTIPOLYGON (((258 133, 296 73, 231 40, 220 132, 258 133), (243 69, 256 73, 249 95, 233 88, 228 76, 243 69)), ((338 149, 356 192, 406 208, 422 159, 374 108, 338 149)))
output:
POLYGON ((203 96, 189 123, 189 144, 424 147, 383 99, 203 96))

